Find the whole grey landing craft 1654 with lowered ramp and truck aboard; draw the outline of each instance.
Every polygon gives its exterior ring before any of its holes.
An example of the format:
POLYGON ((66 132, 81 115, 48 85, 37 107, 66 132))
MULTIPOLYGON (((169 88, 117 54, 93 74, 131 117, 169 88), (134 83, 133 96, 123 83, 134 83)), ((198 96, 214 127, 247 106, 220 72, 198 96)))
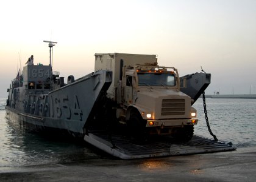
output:
POLYGON ((192 105, 210 84, 210 74, 179 77, 176 68, 158 66, 156 55, 96 53, 94 72, 79 79, 69 75, 65 84, 52 71, 57 42, 44 42, 49 65, 27 65, 10 84, 10 120, 84 138, 123 159, 235 149, 193 136, 198 119, 192 105))

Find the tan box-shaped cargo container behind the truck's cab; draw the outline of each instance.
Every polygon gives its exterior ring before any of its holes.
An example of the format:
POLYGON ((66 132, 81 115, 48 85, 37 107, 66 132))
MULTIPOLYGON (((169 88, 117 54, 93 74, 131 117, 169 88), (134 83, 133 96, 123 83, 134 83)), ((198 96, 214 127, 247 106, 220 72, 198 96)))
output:
POLYGON ((97 70, 112 70, 113 81, 107 90, 108 97, 115 98, 115 89, 121 79, 123 66, 134 66, 136 64, 157 65, 157 55, 135 55, 126 53, 96 53, 95 67, 97 70), (123 65, 122 65, 123 64, 123 65))

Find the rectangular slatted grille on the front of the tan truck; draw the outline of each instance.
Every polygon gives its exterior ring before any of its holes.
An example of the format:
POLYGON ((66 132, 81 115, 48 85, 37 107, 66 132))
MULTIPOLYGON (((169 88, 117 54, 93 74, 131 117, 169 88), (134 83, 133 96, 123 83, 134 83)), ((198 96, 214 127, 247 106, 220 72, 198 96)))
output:
POLYGON ((161 115, 185 115, 185 99, 163 99, 161 115))

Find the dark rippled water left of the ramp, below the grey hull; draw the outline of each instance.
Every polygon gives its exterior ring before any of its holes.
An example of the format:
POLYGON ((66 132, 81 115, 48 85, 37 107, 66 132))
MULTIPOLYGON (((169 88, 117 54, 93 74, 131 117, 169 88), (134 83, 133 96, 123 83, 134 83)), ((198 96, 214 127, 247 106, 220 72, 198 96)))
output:
POLYGON ((4 115, 5 111, 0 110, 0 167, 67 163, 102 157, 102 153, 84 141, 34 133, 13 125, 4 115))

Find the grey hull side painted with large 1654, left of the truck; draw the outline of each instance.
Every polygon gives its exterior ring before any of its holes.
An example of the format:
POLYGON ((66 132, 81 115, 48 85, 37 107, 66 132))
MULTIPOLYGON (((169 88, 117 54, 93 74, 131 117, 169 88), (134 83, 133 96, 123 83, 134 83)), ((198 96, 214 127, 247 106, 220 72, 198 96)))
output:
POLYGON ((32 130, 51 129, 83 136, 111 82, 111 72, 99 71, 45 94, 15 96, 13 89, 13 99, 5 107, 6 116, 32 130))

